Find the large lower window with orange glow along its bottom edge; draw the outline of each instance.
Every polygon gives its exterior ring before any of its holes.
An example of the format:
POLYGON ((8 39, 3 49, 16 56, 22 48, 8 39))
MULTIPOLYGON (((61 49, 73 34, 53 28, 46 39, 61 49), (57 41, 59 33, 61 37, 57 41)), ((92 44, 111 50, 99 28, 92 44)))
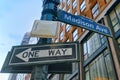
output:
POLYGON ((85 67, 85 80, 117 80, 107 49, 85 67))

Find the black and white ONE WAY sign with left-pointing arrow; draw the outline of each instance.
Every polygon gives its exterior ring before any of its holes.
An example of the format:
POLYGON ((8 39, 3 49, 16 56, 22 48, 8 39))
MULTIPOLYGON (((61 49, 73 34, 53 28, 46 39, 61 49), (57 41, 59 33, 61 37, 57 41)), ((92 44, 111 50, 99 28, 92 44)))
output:
POLYGON ((78 42, 14 46, 9 65, 35 65, 79 61, 78 42))

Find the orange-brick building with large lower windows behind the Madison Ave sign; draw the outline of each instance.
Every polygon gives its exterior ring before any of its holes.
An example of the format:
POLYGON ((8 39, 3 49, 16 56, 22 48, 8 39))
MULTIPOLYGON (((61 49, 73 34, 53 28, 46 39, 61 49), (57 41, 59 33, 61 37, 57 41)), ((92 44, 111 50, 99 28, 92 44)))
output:
POLYGON ((120 80, 120 1, 60 0, 59 9, 106 25, 113 37, 61 22, 54 42, 79 41, 80 63, 57 80, 120 80))

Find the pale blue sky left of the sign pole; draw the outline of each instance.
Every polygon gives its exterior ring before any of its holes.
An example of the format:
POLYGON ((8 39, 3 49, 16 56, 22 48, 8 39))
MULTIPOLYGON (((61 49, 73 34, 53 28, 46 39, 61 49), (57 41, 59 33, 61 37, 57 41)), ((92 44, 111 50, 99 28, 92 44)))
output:
MULTIPOLYGON (((0 70, 12 46, 20 45, 34 20, 39 20, 42 0, 0 0, 0 70)), ((8 80, 9 73, 0 73, 0 80, 8 80)))

